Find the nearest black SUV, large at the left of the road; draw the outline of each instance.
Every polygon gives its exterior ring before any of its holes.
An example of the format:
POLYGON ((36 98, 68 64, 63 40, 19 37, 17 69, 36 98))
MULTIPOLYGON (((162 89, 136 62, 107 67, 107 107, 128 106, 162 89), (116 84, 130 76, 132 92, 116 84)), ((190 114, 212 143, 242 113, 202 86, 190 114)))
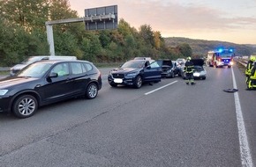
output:
POLYGON ((0 112, 27 118, 41 105, 79 96, 96 98, 101 88, 101 72, 92 62, 34 62, 0 80, 0 112))

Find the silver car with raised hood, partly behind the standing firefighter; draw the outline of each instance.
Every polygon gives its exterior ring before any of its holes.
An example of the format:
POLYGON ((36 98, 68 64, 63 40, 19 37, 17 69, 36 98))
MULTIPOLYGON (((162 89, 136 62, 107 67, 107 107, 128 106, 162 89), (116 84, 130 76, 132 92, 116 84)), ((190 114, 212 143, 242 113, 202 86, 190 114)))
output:
MULTIPOLYGON (((193 76, 194 79, 206 79, 207 78, 207 70, 204 68, 204 60, 203 59, 192 59, 194 66, 193 76)), ((185 79, 185 73, 182 72, 182 76, 185 79)))

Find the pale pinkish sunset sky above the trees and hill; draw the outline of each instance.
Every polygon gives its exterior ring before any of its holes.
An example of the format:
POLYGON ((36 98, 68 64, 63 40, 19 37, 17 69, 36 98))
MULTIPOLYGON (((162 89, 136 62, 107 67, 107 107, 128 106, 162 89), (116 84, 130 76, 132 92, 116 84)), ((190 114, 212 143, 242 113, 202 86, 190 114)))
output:
POLYGON ((69 0, 85 9, 117 5, 118 19, 139 30, 150 25, 162 37, 256 44, 256 0, 69 0))

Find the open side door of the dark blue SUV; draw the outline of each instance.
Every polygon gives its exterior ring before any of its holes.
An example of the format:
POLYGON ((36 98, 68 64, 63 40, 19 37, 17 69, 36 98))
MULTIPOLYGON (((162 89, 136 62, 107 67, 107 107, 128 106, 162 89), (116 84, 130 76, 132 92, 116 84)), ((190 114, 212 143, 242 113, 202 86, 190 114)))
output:
POLYGON ((149 65, 144 68, 145 81, 160 81, 162 69, 155 61, 149 62, 149 65))

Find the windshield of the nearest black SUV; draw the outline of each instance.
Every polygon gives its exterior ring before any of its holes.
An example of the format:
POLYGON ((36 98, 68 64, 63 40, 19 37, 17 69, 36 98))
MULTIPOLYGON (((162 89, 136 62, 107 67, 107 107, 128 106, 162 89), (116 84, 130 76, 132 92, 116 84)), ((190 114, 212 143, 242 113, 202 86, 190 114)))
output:
POLYGON ((50 63, 35 63, 27 66, 19 72, 18 76, 26 77, 41 77, 43 76, 51 67, 50 63))

